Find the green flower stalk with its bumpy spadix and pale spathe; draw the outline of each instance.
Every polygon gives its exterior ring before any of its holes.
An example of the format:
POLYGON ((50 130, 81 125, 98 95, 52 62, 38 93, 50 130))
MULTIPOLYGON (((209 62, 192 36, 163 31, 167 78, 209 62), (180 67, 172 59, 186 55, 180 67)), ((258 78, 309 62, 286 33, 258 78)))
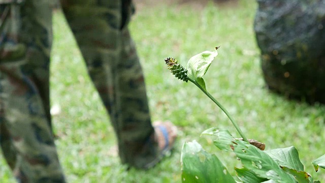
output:
POLYGON ((165 63, 168 66, 168 69, 171 70, 173 75, 175 75, 178 79, 181 79, 185 82, 189 80, 198 86, 202 92, 207 95, 228 116, 243 140, 249 143, 248 139, 245 137, 244 133, 241 131, 230 113, 207 91, 204 79, 202 78, 202 76, 205 75, 208 68, 210 67, 214 57, 218 55, 218 48, 219 47, 215 47, 214 52, 204 51, 192 56, 188 60, 186 68, 178 64, 177 59, 171 57, 166 58, 165 63))

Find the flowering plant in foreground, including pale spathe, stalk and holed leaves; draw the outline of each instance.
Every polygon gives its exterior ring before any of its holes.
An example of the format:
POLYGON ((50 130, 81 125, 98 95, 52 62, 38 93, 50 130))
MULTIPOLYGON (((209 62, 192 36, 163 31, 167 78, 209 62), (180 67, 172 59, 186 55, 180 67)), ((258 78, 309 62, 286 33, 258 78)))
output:
MULTIPOLYGON (((175 58, 165 59, 173 75, 198 86, 229 117, 242 138, 234 138, 228 130, 219 128, 210 128, 202 135, 214 136, 213 143, 219 149, 234 151, 243 166, 235 167, 241 182, 320 182, 314 181, 311 175, 304 171, 304 165, 294 146, 264 150, 265 144, 247 139, 230 113, 207 91, 202 77, 218 55, 218 48, 215 47, 213 52, 204 51, 192 56, 186 68, 175 58)), ((196 141, 184 143, 181 164, 182 182, 239 182, 229 174, 215 155, 207 153, 196 141)), ((316 171, 319 167, 325 168, 325 155, 314 160, 312 164, 316 171)))

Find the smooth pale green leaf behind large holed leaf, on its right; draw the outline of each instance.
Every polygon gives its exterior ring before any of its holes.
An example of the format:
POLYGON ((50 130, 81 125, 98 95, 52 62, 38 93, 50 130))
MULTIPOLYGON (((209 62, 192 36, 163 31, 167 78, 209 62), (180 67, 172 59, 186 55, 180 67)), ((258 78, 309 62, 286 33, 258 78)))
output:
POLYGON ((304 165, 301 163, 298 150, 294 146, 265 150, 265 153, 278 162, 280 166, 304 171, 304 165))

